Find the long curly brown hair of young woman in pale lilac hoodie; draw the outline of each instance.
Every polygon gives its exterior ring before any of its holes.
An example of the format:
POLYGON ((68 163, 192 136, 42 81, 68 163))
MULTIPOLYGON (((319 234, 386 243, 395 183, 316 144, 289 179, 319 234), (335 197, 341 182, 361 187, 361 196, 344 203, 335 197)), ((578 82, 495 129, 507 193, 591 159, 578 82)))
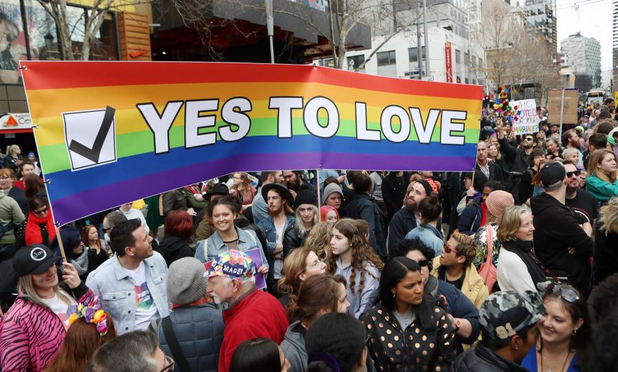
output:
MULTIPOLYGON (((365 284, 365 276, 363 273, 366 272, 367 274, 372 275, 370 272, 365 270, 363 261, 369 261, 369 263, 373 264, 379 270, 382 270, 384 263, 382 263, 379 256, 375 254, 375 251, 371 248, 371 245, 369 245, 365 235, 359 230, 358 224, 353 219, 340 219, 333 225, 333 230, 335 228, 351 243, 350 249, 352 250, 352 270, 348 287, 350 288, 351 293, 357 292, 360 295, 363 292, 365 284), (355 283, 356 272, 360 272, 361 274, 360 283, 358 283, 358 285, 355 283)), ((331 230, 331 234, 329 234, 329 240, 332 238, 333 230, 331 230)), ((333 274, 336 270, 337 256, 335 254, 331 254, 327 258, 327 271, 333 274)))

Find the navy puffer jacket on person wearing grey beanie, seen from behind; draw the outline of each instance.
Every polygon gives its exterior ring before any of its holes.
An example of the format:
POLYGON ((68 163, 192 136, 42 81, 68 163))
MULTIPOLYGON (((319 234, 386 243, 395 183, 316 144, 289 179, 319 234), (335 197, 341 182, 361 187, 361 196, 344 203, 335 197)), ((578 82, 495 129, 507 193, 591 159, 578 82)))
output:
MULTIPOLYGON (((212 303, 186 305, 174 309, 170 320, 191 371, 217 371, 225 327, 221 310, 212 303)), ((160 324, 159 344, 166 355, 172 355, 160 324)))

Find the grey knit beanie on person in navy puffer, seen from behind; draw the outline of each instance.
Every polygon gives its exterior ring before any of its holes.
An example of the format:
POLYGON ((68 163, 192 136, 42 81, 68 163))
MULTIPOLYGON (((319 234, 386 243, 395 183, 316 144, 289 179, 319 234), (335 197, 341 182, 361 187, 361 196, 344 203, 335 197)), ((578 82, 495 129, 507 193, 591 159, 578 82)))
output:
POLYGON ((170 265, 167 276, 167 297, 170 303, 187 305, 206 294, 204 264, 194 257, 184 257, 170 265))

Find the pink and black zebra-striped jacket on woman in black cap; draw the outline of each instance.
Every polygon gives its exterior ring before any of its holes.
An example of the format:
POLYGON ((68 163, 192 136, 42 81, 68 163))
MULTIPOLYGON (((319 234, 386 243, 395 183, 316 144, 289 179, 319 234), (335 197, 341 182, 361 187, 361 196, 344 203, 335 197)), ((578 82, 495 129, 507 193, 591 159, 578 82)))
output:
MULTIPOLYGON (((83 282, 72 292, 78 303, 92 303, 95 298, 83 282)), ((60 349, 65 333, 63 321, 52 310, 19 296, 0 320, 2 371, 42 372, 60 349)))

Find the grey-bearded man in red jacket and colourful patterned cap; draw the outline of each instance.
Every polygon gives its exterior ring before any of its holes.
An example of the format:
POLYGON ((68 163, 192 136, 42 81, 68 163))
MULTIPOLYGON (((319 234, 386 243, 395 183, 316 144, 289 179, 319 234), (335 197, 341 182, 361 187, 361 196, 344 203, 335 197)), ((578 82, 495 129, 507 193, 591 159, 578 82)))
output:
POLYGON ((223 344, 219 353, 219 371, 228 372, 238 345, 252 338, 269 338, 280 344, 287 326, 283 306, 271 294, 255 287, 256 265, 238 250, 223 252, 204 264, 208 294, 215 303, 227 303, 223 309, 223 344))

